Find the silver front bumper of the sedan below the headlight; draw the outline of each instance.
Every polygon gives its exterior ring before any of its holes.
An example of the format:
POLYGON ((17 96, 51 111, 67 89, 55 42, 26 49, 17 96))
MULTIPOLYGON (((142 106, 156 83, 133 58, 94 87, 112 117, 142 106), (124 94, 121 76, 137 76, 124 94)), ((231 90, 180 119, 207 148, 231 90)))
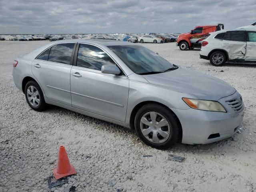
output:
POLYGON ((218 100, 226 109, 226 113, 192 108, 188 110, 170 108, 180 120, 182 143, 208 144, 233 136, 242 123, 244 104, 242 103, 242 110, 237 112, 226 101, 238 97, 238 92, 235 92, 231 96, 218 100), (212 134, 219 134, 219 136, 211 138, 212 134))

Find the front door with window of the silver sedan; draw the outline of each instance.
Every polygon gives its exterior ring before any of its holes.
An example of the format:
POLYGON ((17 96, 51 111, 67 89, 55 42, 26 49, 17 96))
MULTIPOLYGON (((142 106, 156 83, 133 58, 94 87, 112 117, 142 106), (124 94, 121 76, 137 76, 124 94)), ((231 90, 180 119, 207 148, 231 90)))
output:
POLYGON ((129 79, 124 74, 103 74, 101 66, 116 63, 101 48, 80 44, 71 69, 72 106, 124 122, 129 79), (75 66, 76 65, 76 66, 75 66))

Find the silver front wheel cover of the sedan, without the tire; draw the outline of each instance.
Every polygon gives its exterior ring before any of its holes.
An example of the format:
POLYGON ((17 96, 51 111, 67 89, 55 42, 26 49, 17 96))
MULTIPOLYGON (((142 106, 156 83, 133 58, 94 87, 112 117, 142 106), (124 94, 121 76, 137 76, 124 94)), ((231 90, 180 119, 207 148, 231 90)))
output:
POLYGON ((171 135, 168 120, 158 112, 147 112, 140 119, 140 130, 143 136, 150 142, 163 143, 171 135))

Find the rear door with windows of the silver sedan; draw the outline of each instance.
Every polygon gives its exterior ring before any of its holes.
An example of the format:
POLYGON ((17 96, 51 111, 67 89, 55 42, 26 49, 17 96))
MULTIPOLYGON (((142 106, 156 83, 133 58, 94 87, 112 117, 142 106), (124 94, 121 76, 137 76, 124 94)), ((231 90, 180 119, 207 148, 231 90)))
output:
POLYGON ((48 48, 32 64, 32 73, 46 97, 71 106, 70 70, 75 43, 61 43, 48 48))

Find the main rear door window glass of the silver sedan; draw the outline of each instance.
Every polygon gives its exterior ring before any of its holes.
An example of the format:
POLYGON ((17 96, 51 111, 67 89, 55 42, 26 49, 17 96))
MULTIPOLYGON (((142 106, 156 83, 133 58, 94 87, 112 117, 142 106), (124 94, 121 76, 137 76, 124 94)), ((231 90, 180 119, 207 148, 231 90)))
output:
POLYGON ((70 65, 74 43, 62 43, 52 46, 48 61, 70 65))

